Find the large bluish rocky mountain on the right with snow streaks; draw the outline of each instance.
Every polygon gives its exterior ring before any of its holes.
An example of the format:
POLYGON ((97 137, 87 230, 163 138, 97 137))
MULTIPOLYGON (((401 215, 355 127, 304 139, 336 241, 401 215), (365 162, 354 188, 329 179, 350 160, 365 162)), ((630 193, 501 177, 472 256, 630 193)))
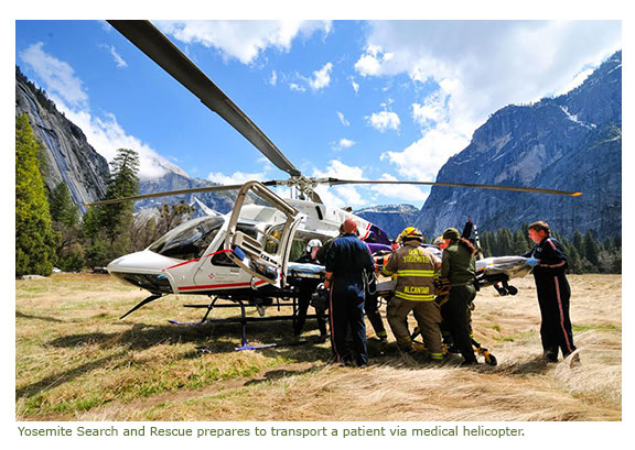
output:
POLYGON ((546 220, 562 235, 622 233, 622 53, 572 91, 496 111, 439 182, 582 191, 581 197, 432 187, 417 226, 427 235, 472 218, 481 229, 546 220))

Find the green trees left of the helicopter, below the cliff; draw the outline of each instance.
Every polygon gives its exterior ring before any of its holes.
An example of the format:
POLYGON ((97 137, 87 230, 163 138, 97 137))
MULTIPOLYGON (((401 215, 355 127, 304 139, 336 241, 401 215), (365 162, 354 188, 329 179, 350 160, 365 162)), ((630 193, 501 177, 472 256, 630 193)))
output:
MULTIPOLYGON (((53 190, 46 188, 42 151, 28 116, 17 117, 15 276, 47 276, 53 267, 64 272, 105 267, 118 256, 146 249, 194 212, 194 207, 183 202, 163 205, 153 217, 140 220, 133 202, 123 201, 90 207, 82 216, 65 182, 53 190)), ((137 152, 117 150, 105 198, 137 195, 138 173, 137 152)))

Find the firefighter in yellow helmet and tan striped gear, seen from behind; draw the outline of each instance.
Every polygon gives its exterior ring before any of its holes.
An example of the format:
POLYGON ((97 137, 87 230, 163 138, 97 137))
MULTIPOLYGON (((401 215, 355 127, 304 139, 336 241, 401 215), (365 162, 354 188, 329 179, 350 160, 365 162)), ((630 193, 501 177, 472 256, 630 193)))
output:
POLYGON ((387 316, 392 334, 400 350, 412 351, 408 331, 408 314, 413 311, 430 359, 441 361, 441 315, 434 303, 434 274, 440 261, 421 246, 423 237, 419 230, 408 227, 400 234, 402 246, 395 252, 383 268, 386 276, 397 276, 395 295, 388 303, 387 316))

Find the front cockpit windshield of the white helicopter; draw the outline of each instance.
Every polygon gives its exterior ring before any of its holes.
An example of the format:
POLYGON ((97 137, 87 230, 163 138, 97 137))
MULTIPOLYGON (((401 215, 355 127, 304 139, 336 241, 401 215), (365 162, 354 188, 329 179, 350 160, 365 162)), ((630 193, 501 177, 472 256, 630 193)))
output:
POLYGON ((218 233, 223 222, 220 217, 202 217, 191 220, 165 233, 148 250, 177 260, 201 257, 218 233))

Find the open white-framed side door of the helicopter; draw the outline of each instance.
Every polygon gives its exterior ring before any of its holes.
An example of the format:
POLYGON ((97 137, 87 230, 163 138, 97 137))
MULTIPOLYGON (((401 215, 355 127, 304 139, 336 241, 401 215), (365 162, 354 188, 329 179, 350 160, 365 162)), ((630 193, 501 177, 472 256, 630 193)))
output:
POLYGON ((243 185, 227 224, 225 249, 252 276, 252 287, 258 279, 277 287, 286 284, 291 242, 301 219, 300 211, 265 185, 243 185))

